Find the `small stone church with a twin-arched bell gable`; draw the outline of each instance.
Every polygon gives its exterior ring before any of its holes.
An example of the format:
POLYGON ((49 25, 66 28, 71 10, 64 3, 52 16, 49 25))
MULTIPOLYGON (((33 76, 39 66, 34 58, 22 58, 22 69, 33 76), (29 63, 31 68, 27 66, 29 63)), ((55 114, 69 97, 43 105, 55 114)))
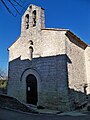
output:
POLYGON ((8 95, 67 111, 90 94, 90 46, 70 30, 45 28, 43 8, 28 7, 8 50, 8 95))

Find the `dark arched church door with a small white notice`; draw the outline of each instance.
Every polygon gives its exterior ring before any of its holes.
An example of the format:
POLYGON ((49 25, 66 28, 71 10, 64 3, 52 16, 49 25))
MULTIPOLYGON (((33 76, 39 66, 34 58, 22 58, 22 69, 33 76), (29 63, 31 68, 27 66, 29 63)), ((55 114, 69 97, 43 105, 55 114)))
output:
POLYGON ((37 79, 33 74, 26 77, 26 101, 29 104, 37 105, 37 79))

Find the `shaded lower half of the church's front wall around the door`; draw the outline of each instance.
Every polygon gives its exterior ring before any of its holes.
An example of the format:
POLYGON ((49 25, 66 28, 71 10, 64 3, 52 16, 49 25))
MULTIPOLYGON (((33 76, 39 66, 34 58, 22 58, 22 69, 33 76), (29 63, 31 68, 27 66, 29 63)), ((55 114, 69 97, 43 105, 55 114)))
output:
POLYGON ((65 55, 34 58, 31 62, 29 60, 13 60, 9 63, 8 95, 26 102, 26 78, 22 81, 21 76, 23 71, 31 69, 40 76, 38 105, 52 109, 69 109, 67 107, 67 68, 65 61, 65 55))

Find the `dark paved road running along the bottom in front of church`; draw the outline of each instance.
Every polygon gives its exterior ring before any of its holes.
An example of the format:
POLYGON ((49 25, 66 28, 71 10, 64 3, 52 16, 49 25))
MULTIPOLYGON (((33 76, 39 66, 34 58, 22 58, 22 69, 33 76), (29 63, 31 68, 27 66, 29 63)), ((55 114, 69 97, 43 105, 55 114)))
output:
POLYGON ((84 116, 61 116, 22 113, 0 108, 0 120, 90 120, 90 113, 84 116))

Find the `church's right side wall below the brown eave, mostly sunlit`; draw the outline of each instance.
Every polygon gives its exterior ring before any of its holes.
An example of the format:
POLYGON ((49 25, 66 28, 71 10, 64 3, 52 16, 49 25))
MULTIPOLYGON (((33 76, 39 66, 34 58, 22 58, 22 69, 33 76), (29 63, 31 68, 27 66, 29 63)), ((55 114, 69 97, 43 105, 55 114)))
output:
POLYGON ((84 85, 86 81, 85 56, 82 45, 73 37, 66 37, 66 53, 70 60, 67 61, 68 86, 71 108, 74 103, 81 103, 86 98, 84 85))

